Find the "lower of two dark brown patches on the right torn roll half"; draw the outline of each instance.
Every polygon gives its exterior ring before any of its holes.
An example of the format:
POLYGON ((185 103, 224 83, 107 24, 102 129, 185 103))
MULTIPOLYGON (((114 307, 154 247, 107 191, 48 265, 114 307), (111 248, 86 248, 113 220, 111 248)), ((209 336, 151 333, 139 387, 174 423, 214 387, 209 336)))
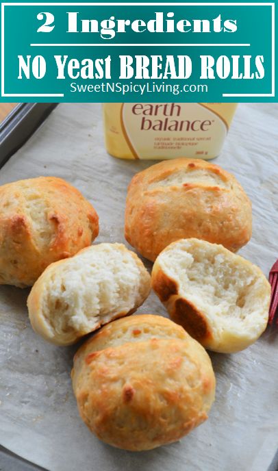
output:
POLYGON ((212 338, 205 316, 184 298, 178 298, 170 309, 170 318, 184 329, 200 343, 206 342, 212 338))

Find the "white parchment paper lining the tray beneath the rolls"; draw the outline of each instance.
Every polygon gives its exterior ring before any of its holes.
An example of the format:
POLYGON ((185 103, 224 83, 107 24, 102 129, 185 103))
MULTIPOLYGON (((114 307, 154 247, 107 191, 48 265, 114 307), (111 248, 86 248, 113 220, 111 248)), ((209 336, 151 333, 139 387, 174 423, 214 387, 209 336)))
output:
MULTIPOLYGON (((150 162, 105 153, 101 105, 62 104, 0 172, 0 184, 55 175, 97 209, 96 242, 124 242, 127 184, 150 162)), ((241 104, 214 160, 253 201, 253 238, 240 251, 267 275, 277 251, 278 105, 241 104)), ((151 268, 151 264, 147 264, 151 268)), ((77 346, 47 344, 29 325, 28 290, 0 287, 0 442, 49 471, 262 471, 278 446, 278 329, 246 351, 211 353, 216 401, 210 418, 180 442, 144 453, 112 448, 81 422, 70 371, 77 346)), ((138 313, 166 316, 154 294, 138 313)))

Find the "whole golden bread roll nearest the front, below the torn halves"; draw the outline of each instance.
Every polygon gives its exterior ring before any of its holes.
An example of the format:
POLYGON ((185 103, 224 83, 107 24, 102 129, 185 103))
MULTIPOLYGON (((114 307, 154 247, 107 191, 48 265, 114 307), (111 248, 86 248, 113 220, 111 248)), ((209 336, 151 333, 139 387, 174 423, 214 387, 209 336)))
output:
POLYGON ((182 327, 144 314, 103 327, 77 351, 73 390, 81 418, 104 442, 150 450, 207 419, 210 357, 182 327))

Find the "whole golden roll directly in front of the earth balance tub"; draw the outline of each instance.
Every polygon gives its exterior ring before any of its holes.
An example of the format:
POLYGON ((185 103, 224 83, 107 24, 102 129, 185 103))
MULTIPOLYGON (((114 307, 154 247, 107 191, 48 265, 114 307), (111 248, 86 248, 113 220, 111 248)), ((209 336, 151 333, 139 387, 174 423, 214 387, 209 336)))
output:
POLYGON ((251 202, 240 183, 209 162, 160 162, 129 185, 125 238, 149 260, 181 238, 223 244, 234 252, 251 238, 251 226, 251 202))

